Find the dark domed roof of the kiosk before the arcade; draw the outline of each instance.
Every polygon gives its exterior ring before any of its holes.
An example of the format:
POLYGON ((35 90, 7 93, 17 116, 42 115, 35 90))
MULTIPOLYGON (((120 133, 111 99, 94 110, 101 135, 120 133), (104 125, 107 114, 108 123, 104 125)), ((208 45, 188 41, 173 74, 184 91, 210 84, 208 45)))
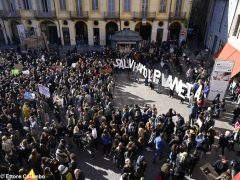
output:
POLYGON ((142 38, 138 32, 124 29, 122 31, 115 32, 112 36, 112 40, 120 42, 137 42, 141 41, 142 38))

